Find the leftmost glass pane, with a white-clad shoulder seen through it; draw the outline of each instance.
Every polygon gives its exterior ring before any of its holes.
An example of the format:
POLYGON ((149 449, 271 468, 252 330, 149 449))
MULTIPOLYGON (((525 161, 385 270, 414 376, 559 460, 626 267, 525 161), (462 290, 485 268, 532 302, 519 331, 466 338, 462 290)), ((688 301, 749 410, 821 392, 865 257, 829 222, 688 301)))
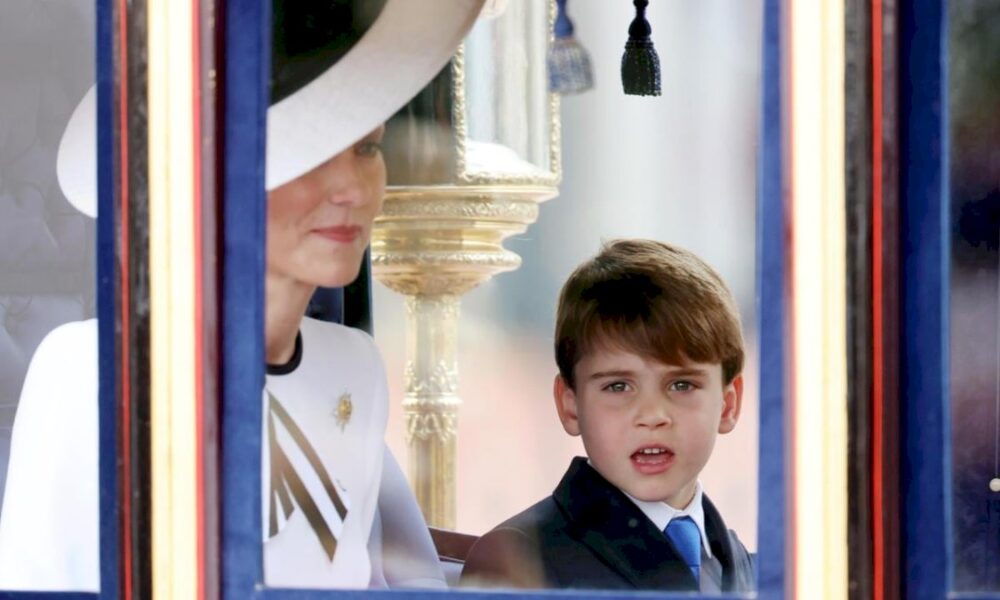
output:
POLYGON ((98 586, 96 172, 56 168, 94 56, 92 0, 0 3, 0 589, 98 586))

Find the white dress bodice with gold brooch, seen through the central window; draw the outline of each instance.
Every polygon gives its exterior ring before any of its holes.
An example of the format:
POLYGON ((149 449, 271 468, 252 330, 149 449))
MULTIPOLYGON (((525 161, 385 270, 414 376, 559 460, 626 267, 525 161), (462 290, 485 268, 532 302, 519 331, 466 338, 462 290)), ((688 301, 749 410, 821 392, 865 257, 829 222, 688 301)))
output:
MULTIPOLYGON (((368 538, 378 506, 389 410, 385 368, 372 339, 357 329, 307 318, 299 332, 298 364, 293 357, 285 365, 289 372, 283 374, 268 368, 264 428, 270 394, 315 449, 347 512, 342 524, 337 523, 341 529, 335 532, 332 560, 298 505, 277 535, 270 537, 270 456, 269 444, 263 444, 264 583, 269 587, 366 588, 372 574, 368 538), (345 416, 348 411, 349 418, 345 416)), ((308 471, 308 466, 299 469, 304 478, 308 471)))

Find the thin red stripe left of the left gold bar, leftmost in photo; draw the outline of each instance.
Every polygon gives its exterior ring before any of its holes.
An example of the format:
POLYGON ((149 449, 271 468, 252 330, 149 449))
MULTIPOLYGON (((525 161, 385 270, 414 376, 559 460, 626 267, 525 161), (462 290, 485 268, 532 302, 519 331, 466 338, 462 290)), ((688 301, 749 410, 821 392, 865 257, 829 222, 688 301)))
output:
POLYGON ((119 541, 122 557, 122 598, 132 600, 132 397, 130 379, 130 344, 129 336, 129 154, 128 154, 128 3, 118 0, 118 140, 119 140, 119 197, 120 221, 118 230, 121 235, 119 246, 119 267, 121 269, 118 281, 121 292, 121 406, 120 419, 121 437, 119 438, 118 455, 121 458, 120 488, 118 501, 121 503, 121 534, 119 541))

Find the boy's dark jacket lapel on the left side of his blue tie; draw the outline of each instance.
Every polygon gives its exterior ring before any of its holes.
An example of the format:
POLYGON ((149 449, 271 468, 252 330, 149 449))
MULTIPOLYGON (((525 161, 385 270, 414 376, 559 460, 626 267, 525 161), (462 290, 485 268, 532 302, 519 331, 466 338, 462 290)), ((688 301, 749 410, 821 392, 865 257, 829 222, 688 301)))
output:
POLYGON ((670 540, 586 459, 573 459, 552 497, 570 535, 636 588, 698 591, 670 540))

